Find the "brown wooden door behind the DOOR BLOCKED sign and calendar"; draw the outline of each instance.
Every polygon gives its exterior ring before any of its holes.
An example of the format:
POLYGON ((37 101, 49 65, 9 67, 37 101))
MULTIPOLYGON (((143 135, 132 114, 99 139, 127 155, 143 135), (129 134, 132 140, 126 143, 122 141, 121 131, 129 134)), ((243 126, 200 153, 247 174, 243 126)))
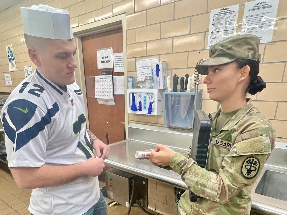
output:
MULTIPOLYGON (((103 70, 112 70, 113 76, 124 75, 123 72, 115 73, 113 68, 98 69, 97 50, 109 47, 113 48, 113 53, 123 52, 122 28, 82 37, 85 79, 101 75, 103 70)), ((125 96, 114 95, 114 100, 115 105, 100 105, 96 98, 87 97, 89 128, 106 144, 106 133, 109 143, 125 139, 125 124, 122 123, 125 122, 125 96)))

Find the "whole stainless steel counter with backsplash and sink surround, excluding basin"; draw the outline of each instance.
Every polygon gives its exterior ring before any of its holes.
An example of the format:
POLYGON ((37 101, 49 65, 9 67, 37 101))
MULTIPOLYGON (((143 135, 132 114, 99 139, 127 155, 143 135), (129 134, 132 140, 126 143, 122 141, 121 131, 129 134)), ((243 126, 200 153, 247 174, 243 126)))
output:
MULTIPOLYGON (((156 143, 166 144, 174 151, 180 153, 188 151, 193 136, 191 132, 183 131, 183 133, 181 133, 178 130, 154 127, 156 126, 131 123, 128 128, 128 136, 131 139, 110 144, 110 156, 104 161, 105 165, 145 178, 163 181, 175 187, 187 189, 187 186, 183 183, 179 174, 156 167, 152 165, 149 160, 135 159, 136 151, 154 149, 156 148, 156 143), (156 143, 153 143, 153 141, 156 143)), ((268 215, 287 215, 287 202, 255 193, 255 189, 266 170, 287 173, 286 147, 286 143, 276 142, 276 147, 256 180, 251 191, 251 207, 254 211, 268 215)), ((285 188, 286 184, 282 183, 278 184, 278 186, 285 188)))

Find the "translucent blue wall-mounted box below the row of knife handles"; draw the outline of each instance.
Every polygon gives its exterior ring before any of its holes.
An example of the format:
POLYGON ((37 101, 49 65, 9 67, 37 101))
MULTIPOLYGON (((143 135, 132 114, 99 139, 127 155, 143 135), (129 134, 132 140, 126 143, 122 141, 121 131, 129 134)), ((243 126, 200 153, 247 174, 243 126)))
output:
MULTIPOLYGON (((164 124, 193 128, 195 89, 190 92, 167 92, 163 93, 164 99, 164 124)), ((202 106, 202 89, 197 93, 197 110, 202 106)))

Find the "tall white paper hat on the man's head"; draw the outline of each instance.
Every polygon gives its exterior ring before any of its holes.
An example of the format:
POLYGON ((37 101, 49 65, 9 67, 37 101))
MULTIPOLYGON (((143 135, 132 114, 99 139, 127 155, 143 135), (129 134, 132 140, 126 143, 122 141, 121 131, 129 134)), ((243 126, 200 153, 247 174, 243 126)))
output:
POLYGON ((25 34, 58 40, 73 38, 68 11, 48 5, 33 5, 20 9, 25 34))

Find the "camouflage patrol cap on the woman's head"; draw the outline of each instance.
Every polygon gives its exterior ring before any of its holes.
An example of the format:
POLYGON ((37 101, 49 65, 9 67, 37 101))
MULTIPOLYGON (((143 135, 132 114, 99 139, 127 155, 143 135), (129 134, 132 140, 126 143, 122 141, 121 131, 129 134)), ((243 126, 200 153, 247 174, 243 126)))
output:
POLYGON ((233 62, 235 59, 251 59, 260 63, 259 37, 252 34, 241 34, 227 38, 210 47, 210 59, 196 66, 197 72, 207 75, 208 66, 215 66, 233 62))

